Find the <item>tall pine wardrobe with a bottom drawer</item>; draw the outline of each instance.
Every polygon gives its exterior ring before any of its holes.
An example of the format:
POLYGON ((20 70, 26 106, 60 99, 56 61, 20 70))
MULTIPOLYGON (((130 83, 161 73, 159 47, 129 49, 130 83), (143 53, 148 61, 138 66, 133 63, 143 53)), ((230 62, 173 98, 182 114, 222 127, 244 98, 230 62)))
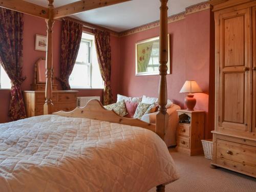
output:
POLYGON ((212 167, 256 177, 256 1, 210 3, 216 28, 212 167))

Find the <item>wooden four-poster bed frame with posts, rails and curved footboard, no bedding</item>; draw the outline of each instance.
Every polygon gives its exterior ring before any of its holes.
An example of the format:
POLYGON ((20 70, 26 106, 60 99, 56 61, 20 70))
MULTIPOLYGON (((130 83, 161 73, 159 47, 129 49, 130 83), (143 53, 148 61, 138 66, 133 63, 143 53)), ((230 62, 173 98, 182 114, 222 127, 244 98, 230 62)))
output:
MULTIPOLYGON (((69 16, 82 11, 95 9, 99 7, 114 5, 118 3, 127 2, 130 0, 83 0, 72 4, 54 8, 53 0, 48 0, 48 8, 31 4, 19 0, 1 0, 0 7, 12 9, 15 11, 39 16, 46 19, 47 24, 47 53, 46 53, 46 102, 44 105, 44 114, 52 114, 52 69, 53 69, 53 25, 54 19, 69 16)), ((126 119, 118 116, 113 111, 103 109, 103 106, 96 100, 91 100, 86 107, 77 108, 72 112, 57 112, 54 115, 71 117, 71 118, 88 118, 99 121, 108 121, 111 123, 119 123, 124 125, 139 126, 144 129, 155 132, 161 139, 164 140, 165 130, 168 126, 168 114, 166 113, 167 103, 167 60, 168 60, 168 42, 167 42, 167 1, 160 0, 160 81, 159 81, 159 112, 156 117, 156 124, 148 124, 138 119, 126 119)), ((164 191, 164 184, 159 183, 157 191, 164 191)))

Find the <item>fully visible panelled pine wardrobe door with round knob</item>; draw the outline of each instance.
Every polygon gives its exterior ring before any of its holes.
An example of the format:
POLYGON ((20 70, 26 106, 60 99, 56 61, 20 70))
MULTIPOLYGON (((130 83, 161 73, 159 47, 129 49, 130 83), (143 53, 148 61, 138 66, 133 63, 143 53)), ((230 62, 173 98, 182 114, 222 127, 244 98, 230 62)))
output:
POLYGON ((217 130, 246 132, 250 126, 250 9, 220 14, 219 38, 217 130))

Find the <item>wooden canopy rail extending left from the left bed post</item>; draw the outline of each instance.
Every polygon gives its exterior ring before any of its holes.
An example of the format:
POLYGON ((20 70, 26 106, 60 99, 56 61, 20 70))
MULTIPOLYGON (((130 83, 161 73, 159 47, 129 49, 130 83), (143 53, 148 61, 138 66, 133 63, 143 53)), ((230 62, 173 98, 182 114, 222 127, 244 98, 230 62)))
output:
POLYGON ((49 17, 48 8, 35 5, 29 2, 21 1, 21 0, 0 0, 0 7, 11 9, 13 11, 26 13, 29 15, 37 16, 37 17, 42 17, 42 18, 49 17))

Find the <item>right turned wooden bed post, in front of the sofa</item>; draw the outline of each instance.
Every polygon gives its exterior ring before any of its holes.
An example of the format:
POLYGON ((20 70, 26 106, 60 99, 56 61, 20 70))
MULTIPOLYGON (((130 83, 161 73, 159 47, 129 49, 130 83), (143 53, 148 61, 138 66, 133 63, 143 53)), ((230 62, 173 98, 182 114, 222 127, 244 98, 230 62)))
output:
POLYGON ((168 114, 166 112, 167 104, 167 61, 168 61, 168 27, 167 27, 167 2, 168 0, 160 0, 160 47, 159 47, 159 112, 156 116, 156 133, 164 140, 165 130, 168 126, 168 114))

